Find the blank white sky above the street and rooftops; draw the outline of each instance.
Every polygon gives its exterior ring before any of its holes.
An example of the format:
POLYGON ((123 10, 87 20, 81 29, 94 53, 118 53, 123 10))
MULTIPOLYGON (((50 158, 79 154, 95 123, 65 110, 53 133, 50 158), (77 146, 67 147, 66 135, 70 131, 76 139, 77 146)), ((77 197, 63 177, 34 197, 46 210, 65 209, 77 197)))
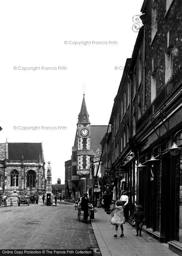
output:
POLYGON ((84 90, 91 125, 108 125, 142 4, 1 1, 0 143, 42 142, 53 184, 65 183, 84 90))

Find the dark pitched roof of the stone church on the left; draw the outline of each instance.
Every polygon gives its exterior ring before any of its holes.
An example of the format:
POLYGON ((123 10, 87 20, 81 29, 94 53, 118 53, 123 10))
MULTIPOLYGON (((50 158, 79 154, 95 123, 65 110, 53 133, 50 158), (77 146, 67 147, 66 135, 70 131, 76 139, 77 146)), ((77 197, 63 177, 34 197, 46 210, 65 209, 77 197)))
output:
POLYGON ((39 153, 43 157, 42 143, 8 143, 9 160, 39 160, 39 153))

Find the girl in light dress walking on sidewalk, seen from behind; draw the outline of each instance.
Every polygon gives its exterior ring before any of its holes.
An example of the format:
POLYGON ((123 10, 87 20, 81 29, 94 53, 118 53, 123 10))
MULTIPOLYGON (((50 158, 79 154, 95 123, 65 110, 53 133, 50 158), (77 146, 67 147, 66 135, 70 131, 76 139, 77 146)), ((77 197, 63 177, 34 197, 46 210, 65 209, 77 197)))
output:
POLYGON ((114 217, 111 219, 111 224, 116 225, 115 227, 115 234, 114 237, 117 237, 117 229, 121 227, 121 234, 120 237, 123 237, 123 224, 125 223, 124 212, 123 212, 123 203, 121 200, 117 200, 115 204, 115 214, 114 217))

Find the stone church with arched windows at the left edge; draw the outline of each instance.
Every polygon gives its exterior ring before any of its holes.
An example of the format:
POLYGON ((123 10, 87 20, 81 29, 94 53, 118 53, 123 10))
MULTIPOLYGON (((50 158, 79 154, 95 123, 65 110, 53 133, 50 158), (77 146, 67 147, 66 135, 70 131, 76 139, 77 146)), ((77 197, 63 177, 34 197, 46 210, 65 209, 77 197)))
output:
POLYGON ((0 192, 43 194, 44 165, 42 143, 0 143, 0 192))

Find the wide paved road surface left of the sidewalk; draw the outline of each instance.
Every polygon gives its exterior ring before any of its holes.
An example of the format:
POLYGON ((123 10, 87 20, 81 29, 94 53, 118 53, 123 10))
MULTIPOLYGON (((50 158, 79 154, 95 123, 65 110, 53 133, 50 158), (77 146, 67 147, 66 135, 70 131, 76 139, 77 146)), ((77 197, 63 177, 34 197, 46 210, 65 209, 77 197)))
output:
POLYGON ((98 249, 91 224, 73 205, 0 208, 0 249, 98 249))

